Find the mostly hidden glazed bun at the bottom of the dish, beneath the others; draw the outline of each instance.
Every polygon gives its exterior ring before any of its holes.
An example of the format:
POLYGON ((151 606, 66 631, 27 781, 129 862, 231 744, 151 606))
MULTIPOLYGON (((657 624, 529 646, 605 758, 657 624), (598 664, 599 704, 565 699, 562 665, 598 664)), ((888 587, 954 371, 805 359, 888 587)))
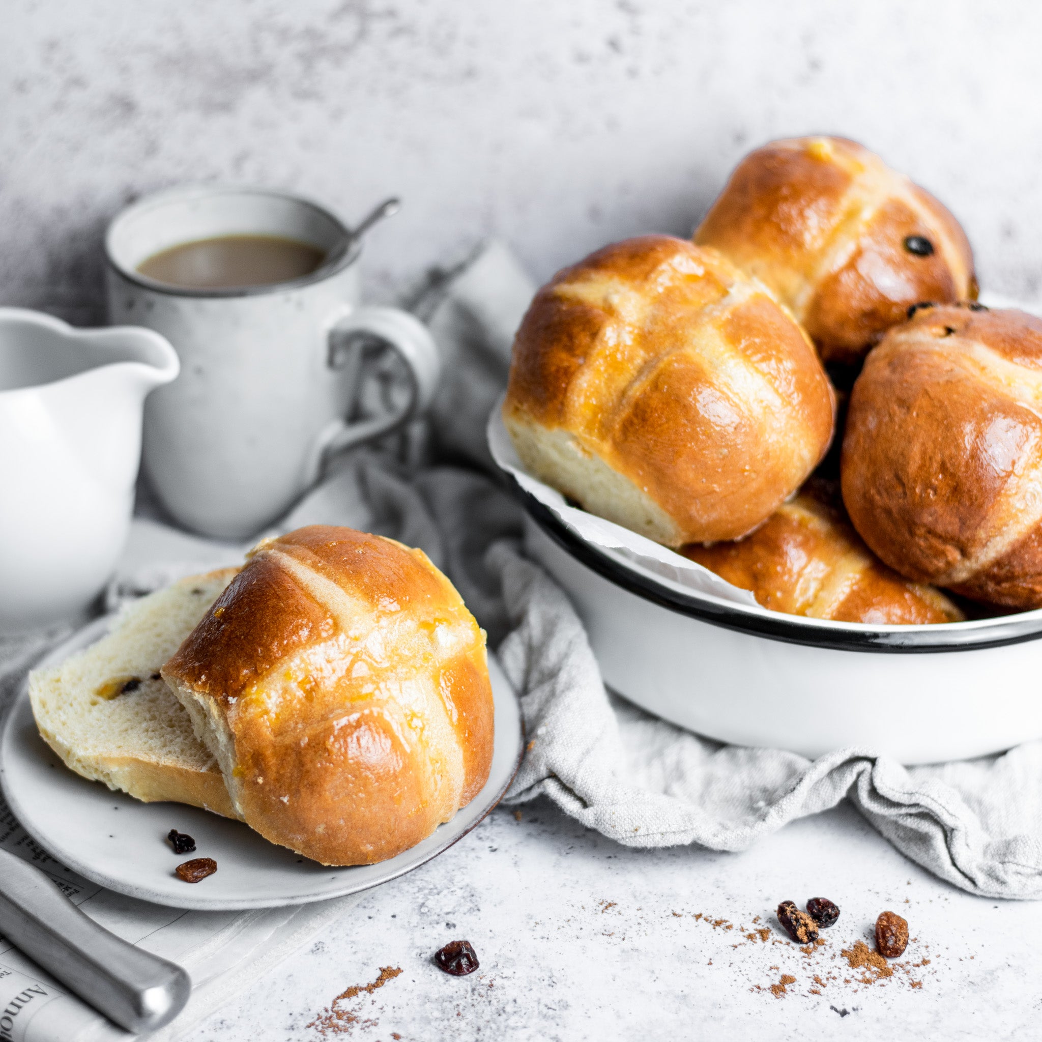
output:
POLYGON ((751 536, 681 552, 772 612, 877 625, 963 619, 940 591, 873 557, 846 520, 838 489, 814 479, 751 536))

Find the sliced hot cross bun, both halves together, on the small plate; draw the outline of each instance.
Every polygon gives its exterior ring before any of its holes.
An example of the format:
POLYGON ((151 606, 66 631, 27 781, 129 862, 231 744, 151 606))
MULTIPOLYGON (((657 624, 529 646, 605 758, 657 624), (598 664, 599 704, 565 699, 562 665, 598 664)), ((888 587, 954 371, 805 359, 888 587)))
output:
POLYGON ((234 816, 327 865, 392 858, 485 785, 485 634, 421 550, 315 525, 130 607, 30 675, 85 777, 234 816))

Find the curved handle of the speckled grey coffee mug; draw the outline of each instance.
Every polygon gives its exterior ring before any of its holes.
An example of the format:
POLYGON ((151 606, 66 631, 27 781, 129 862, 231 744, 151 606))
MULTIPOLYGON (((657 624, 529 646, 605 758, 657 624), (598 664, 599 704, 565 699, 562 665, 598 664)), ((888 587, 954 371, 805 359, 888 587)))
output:
POLYGON ((349 423, 340 419, 319 436, 313 452, 313 473, 317 478, 325 460, 344 449, 390 433, 422 413, 435 397, 442 372, 441 354, 427 327, 397 307, 357 307, 339 319, 327 334, 326 365, 341 369, 357 364, 356 349, 346 342, 352 337, 372 337, 397 351, 410 375, 410 395, 404 404, 367 420, 349 423))

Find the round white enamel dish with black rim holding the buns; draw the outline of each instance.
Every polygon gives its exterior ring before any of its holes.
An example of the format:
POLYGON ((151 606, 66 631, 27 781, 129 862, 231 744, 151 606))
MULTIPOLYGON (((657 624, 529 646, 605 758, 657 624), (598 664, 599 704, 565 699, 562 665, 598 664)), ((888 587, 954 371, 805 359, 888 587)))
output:
POLYGON ((645 567, 650 555, 585 538, 574 508, 505 458, 505 438, 497 406, 490 448, 525 508, 527 553, 569 595, 604 683, 649 713, 721 742, 809 758, 853 747, 904 764, 1042 737, 1042 611, 884 626, 692 589, 645 567))

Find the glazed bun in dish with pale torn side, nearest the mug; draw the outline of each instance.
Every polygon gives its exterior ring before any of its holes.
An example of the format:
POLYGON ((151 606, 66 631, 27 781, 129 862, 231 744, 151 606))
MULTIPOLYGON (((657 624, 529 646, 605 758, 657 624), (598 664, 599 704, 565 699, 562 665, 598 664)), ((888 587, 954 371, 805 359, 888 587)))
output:
POLYGON ((828 447, 832 386, 799 326, 714 250, 606 246, 537 294, 503 421, 525 468, 669 546, 755 528, 828 447))

